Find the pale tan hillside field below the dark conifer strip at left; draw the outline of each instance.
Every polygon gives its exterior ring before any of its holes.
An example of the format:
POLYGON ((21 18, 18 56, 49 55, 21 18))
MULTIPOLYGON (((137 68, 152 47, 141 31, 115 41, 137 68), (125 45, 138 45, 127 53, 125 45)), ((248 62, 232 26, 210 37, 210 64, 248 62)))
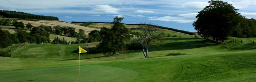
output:
POLYGON ((75 31, 78 32, 79 29, 82 29, 85 31, 86 34, 90 33, 90 31, 92 30, 100 30, 97 28, 89 28, 89 27, 84 27, 84 26, 80 26, 80 25, 75 25, 75 24, 70 24, 70 23, 66 23, 66 22, 59 22, 59 21, 25 21, 25 20, 18 20, 18 22, 23 22, 24 24, 27 23, 32 23, 33 26, 38 27, 41 24, 46 25, 46 26, 61 26, 61 27, 73 27, 75 28, 75 31))

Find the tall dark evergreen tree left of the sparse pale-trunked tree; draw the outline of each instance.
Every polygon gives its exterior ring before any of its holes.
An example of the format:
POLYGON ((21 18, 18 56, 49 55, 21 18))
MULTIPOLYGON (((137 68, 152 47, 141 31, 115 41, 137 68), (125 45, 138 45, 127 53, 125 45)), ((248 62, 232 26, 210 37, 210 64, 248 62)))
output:
POLYGON ((126 28, 121 21, 122 17, 114 18, 114 25, 111 29, 102 28, 100 34, 102 35, 102 42, 98 45, 102 49, 103 53, 113 52, 114 55, 116 52, 121 51, 125 47, 126 41, 130 40, 132 35, 130 35, 129 29, 126 28))

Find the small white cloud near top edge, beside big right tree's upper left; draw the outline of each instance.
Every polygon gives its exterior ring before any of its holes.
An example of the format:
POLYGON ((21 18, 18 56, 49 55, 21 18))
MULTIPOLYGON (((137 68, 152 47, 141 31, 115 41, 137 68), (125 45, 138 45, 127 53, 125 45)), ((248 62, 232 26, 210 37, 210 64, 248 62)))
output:
POLYGON ((186 2, 182 6, 188 10, 203 10, 204 7, 208 6, 208 2, 186 2))

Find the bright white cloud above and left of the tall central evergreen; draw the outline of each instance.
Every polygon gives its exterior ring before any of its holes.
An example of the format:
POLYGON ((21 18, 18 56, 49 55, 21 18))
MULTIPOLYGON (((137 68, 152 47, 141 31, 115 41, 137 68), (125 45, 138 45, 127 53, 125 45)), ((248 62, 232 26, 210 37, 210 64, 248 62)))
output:
POLYGON ((109 5, 96 5, 96 7, 94 8, 94 11, 104 12, 107 14, 119 14, 119 10, 120 9, 111 7, 109 5))

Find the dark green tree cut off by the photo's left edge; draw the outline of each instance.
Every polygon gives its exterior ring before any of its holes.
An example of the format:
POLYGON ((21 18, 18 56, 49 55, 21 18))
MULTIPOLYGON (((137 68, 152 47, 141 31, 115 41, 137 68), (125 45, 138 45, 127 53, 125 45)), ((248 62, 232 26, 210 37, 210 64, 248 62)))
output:
POLYGON ((5 48, 11 45, 11 40, 9 39, 9 36, 9 31, 2 30, 0 28, 0 48, 5 48))

